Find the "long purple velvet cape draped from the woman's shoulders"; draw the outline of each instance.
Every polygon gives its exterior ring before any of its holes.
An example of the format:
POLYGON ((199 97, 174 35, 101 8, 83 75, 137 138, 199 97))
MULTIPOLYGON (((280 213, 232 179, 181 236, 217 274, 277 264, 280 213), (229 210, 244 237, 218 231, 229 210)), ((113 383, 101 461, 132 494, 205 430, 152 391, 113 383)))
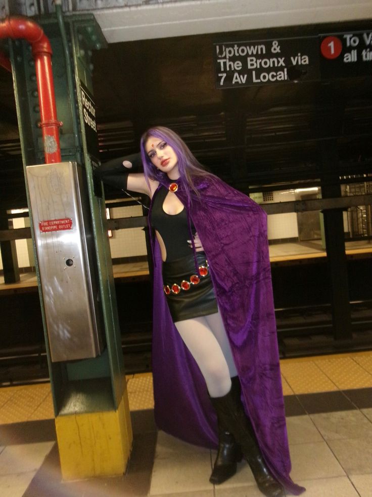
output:
MULTIPOLYGON (((169 183, 168 183, 169 184, 169 183)), ((210 273, 242 384, 242 400, 272 474, 295 495, 304 491, 289 473, 282 381, 277 350, 266 213, 215 177, 197 184, 188 209, 207 254, 210 273)), ((154 252, 153 378, 155 420, 186 442, 216 447, 216 414, 204 378, 184 346, 166 303, 160 248, 154 252)))

